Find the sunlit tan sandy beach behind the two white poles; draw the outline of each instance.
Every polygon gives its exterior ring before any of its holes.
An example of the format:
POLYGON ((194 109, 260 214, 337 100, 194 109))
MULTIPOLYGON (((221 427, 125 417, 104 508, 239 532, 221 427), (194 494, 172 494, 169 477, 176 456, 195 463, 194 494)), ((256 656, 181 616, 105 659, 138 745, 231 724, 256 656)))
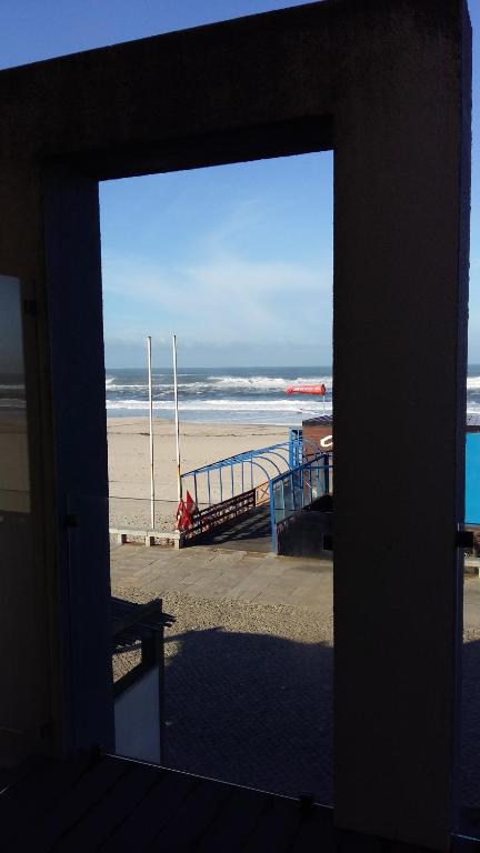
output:
MULTIPOLYGON (((156 528, 172 530, 177 509, 177 466, 174 422, 156 419, 156 528)), ((288 441, 286 425, 238 423, 180 424, 182 471, 226 459, 241 451, 288 441)), ((150 444, 147 418, 108 419, 110 526, 149 526, 150 518, 150 444)), ((256 484, 266 478, 254 473, 256 484)), ((237 472, 237 476, 239 472, 237 472)), ((219 500, 218 482, 211 483, 219 500)), ((227 494, 226 496, 229 496, 227 494)))

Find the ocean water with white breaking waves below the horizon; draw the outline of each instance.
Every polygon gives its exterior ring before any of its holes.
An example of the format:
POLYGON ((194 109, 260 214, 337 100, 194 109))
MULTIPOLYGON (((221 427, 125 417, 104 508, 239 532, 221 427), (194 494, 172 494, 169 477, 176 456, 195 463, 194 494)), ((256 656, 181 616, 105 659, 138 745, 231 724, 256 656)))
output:
MULTIPOLYGON (((183 368, 179 370, 179 410, 182 421, 298 425, 323 413, 317 397, 289 397, 291 384, 323 382, 324 411, 332 411, 331 368, 183 368)), ((153 417, 171 419, 173 374, 152 371, 153 417)), ((148 414, 147 370, 106 371, 107 414, 124 418, 148 414)), ((480 364, 469 368, 468 410, 480 412, 480 364)))

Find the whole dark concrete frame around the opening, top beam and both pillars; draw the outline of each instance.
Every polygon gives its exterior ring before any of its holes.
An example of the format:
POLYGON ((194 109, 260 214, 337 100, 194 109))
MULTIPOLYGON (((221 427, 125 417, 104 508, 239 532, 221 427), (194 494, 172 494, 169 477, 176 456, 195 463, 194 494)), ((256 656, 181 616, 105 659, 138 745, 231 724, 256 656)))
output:
MULTIPOLYGON (((36 548, 22 575, 37 586, 24 592, 16 559, 2 553, 11 598, 1 616, 14 625, 28 596, 36 629, 24 665, 32 684, 38 666, 49 685, 47 699, 38 686, 31 701, 38 731, 47 715, 53 732, 38 735, 44 749, 111 732, 100 686, 106 514, 94 530, 86 509, 106 488, 107 458, 92 179, 333 147, 336 820, 447 850, 461 639, 469 57, 461 0, 328 0, 0 73, 0 273, 22 277, 39 309, 27 360, 38 388, 36 548), (64 389, 67 373, 80 381, 79 354, 92 377, 88 441, 64 389), (352 412, 366 409, 359 424, 352 412), (406 470, 398 446, 412 422, 406 470), (367 442, 374 468, 357 453, 367 442), (92 539, 68 598, 70 491, 92 539), (92 641, 79 630, 86 613, 92 641), (92 698, 80 724, 72 703, 84 690, 92 698)), ((76 553, 82 548, 77 541, 76 553)), ((23 693, 10 676, 9 708, 21 716, 23 693)))

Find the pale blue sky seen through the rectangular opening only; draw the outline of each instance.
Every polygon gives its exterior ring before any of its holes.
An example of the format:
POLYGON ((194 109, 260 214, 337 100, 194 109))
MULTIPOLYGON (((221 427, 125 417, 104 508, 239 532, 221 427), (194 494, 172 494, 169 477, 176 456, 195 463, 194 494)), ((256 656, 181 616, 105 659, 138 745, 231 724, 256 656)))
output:
POLYGON ((328 152, 103 184, 108 367, 144 358, 146 330, 157 363, 172 330, 188 365, 330 363, 331 168, 328 152))

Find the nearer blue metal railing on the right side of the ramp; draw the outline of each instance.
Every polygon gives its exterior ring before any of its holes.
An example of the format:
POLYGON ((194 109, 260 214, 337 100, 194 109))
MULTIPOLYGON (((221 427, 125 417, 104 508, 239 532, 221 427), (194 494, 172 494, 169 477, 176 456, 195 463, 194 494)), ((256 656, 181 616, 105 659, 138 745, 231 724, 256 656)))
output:
POLYGON ((322 453, 270 480, 272 545, 277 548, 277 524, 308 506, 332 489, 333 460, 322 453))

